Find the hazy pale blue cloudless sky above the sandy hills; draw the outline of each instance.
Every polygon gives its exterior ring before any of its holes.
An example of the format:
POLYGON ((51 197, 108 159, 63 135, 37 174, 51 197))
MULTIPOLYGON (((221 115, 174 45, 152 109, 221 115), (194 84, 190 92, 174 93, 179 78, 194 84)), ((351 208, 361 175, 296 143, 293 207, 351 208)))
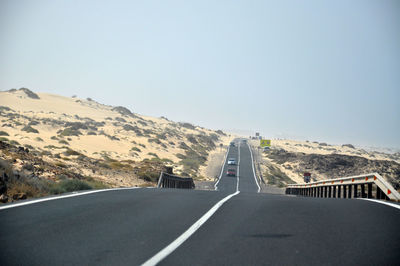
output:
POLYGON ((400 148, 400 1, 0 0, 0 89, 400 148))

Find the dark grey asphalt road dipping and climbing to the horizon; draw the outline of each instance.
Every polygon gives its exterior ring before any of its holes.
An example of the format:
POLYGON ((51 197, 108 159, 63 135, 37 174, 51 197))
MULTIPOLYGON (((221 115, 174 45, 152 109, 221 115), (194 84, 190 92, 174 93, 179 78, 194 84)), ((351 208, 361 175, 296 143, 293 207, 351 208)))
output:
POLYGON ((227 157, 239 176, 225 165, 217 191, 138 188, 1 207, 0 265, 398 265, 399 209, 257 193, 248 145, 227 157))

